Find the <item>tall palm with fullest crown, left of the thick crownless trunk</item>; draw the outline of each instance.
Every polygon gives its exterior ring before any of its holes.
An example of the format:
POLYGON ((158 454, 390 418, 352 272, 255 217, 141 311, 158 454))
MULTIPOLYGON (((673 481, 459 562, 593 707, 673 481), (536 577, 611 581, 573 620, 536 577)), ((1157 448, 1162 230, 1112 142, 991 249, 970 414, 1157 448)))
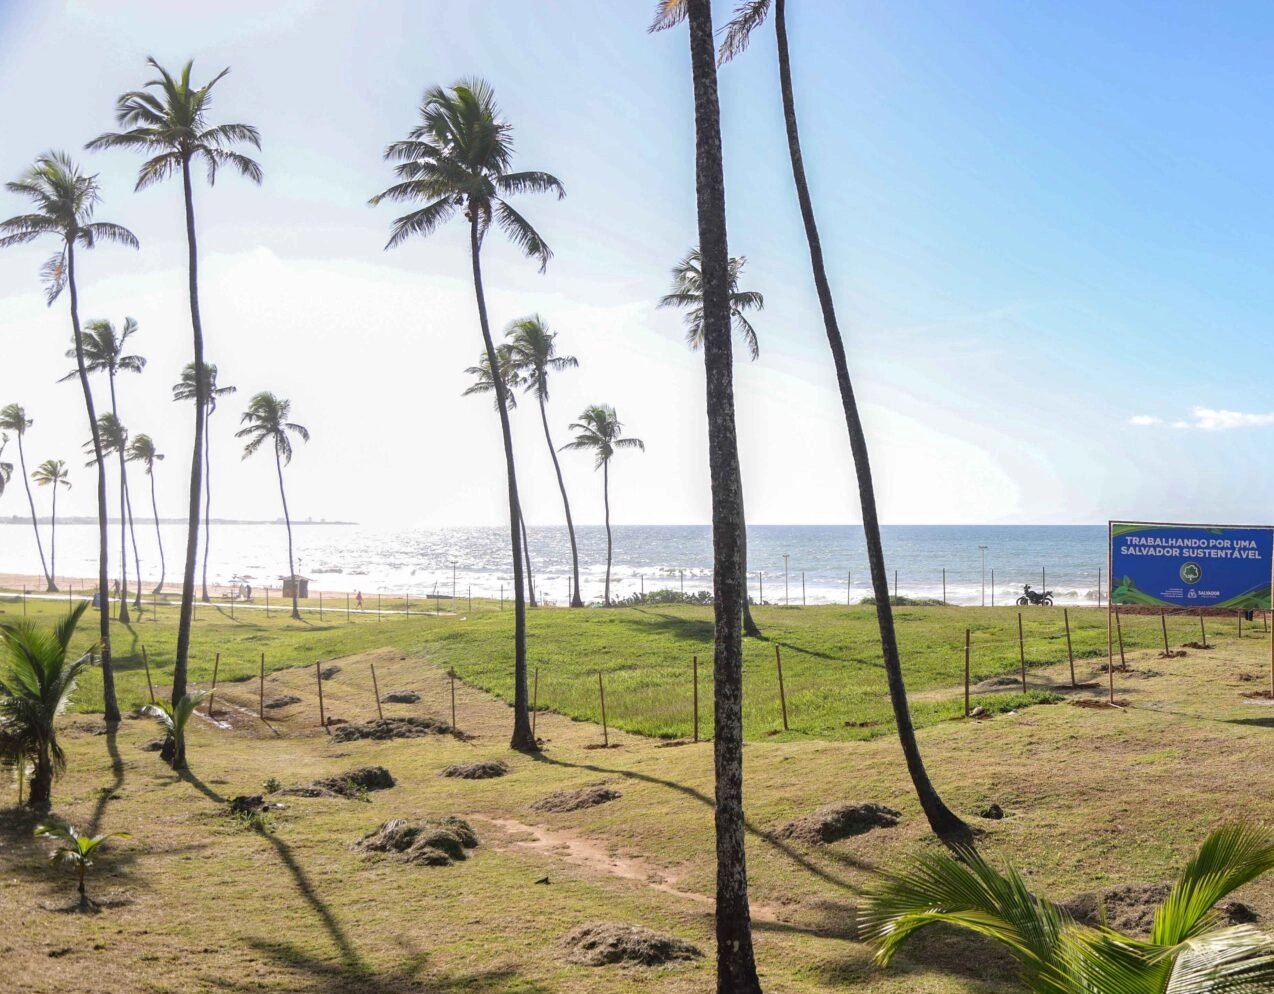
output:
MULTIPOLYGON (((487 320, 487 297, 482 284, 482 243, 492 223, 515 246, 539 260, 540 271, 553 252, 510 203, 508 196, 526 192, 566 190, 547 172, 510 172, 513 159, 513 127, 499 116, 496 96, 482 79, 462 79, 450 89, 431 87, 420 102, 420 124, 403 141, 392 143, 385 158, 396 162, 400 182, 372 198, 394 203, 419 203, 394 222, 386 248, 401 245, 413 234, 427 237, 462 212, 469 222, 469 257, 473 268, 474 298, 482 328, 487 361, 498 368, 496 343, 487 320)), ((496 407, 505 442, 505 468, 508 474, 508 535, 513 556, 513 737, 512 748, 538 749, 531 734, 526 687, 526 600, 522 589, 522 557, 519 535, 522 531, 517 500, 517 473, 513 466, 513 433, 508 424, 508 390, 496 378, 496 407)))

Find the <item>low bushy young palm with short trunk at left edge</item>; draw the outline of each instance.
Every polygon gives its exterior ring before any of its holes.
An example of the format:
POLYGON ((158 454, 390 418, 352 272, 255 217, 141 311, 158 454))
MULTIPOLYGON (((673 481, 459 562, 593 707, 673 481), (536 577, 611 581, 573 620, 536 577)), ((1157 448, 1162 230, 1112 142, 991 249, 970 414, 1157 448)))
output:
POLYGON ((82 600, 52 630, 25 618, 0 624, 0 738, 19 757, 19 771, 28 760, 32 763, 27 803, 33 808, 48 807, 54 776, 66 768, 55 720, 92 663, 87 652, 74 660, 66 656, 87 608, 82 600))

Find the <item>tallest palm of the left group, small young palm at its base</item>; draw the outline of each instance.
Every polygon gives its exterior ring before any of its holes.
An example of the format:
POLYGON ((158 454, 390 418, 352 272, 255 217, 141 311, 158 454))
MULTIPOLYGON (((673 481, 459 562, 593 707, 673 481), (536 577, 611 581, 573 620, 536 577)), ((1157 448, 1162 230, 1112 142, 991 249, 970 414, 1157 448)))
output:
POLYGON ((208 107, 211 92, 229 69, 223 69, 203 87, 194 87, 186 62, 173 76, 154 59, 147 65, 159 76, 145 87, 121 96, 115 104, 115 120, 124 131, 99 135, 88 143, 90 149, 126 148, 149 158, 138 173, 136 190, 181 175, 186 208, 186 260, 190 294, 190 326, 194 333, 195 363, 195 447, 190 460, 190 512, 186 517, 186 567, 181 582, 181 613, 177 619, 177 652, 172 673, 173 703, 186 696, 186 665, 190 658, 190 623, 195 610, 195 559, 199 556, 199 502, 203 497, 204 463, 204 324, 199 313, 199 246, 195 237, 195 192, 191 166, 208 169, 208 185, 217 181, 217 172, 229 167, 255 184, 261 182, 261 167, 234 149, 248 144, 261 148, 257 130, 246 124, 210 125, 208 107))

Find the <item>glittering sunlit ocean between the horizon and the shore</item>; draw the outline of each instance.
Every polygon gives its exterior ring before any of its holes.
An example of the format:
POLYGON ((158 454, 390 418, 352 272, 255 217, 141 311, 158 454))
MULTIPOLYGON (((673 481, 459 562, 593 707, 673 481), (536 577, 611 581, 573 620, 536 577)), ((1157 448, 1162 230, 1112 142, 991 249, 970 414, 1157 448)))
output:
MULTIPOLYGON (((45 552, 48 526, 42 525, 45 552)), ((180 582, 185 528, 163 525, 167 582, 180 582)), ((564 528, 527 530, 538 595, 567 603, 571 545, 564 528)), ((707 525, 615 525, 612 598, 659 589, 712 589, 712 529, 707 525)), ((512 590, 508 531, 499 528, 385 529, 367 525, 293 525, 297 571, 311 591, 364 594, 433 593, 505 596, 512 590)), ((600 600, 606 533, 576 529, 580 581, 587 600, 600 600)), ((1096 604, 1098 571, 1106 591, 1106 525, 885 525, 882 528, 889 585, 913 598, 950 604, 1009 604, 1023 584, 1043 581, 1059 604, 1096 604), (985 571, 984 549, 985 547, 985 571), (945 587, 944 587, 945 571, 945 587), (1042 575, 1041 575, 1042 571, 1042 575), (985 582, 985 586, 984 586, 985 582), (945 593, 944 593, 945 591, 945 593)), ((112 529, 112 576, 118 533, 112 529)), ((143 585, 159 577, 154 525, 138 524, 143 585)), ((130 558, 131 558, 130 549, 130 558)), ((276 587, 287 573, 287 534, 280 524, 213 524, 209 584, 242 580, 276 587)), ((31 522, 0 522, 0 572, 39 573, 31 522)), ((97 572, 97 529, 59 524, 57 573, 97 572)), ((130 575, 132 570, 130 567, 130 575)), ((748 593, 768 603, 856 603, 869 595, 860 525, 755 525, 748 529, 748 593)))

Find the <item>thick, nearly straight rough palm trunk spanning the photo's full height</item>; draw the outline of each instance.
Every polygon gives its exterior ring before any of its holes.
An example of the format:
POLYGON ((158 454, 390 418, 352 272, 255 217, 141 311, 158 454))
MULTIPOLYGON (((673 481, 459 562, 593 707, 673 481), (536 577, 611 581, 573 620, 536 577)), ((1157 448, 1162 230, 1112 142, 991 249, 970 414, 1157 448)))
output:
POLYGON ((761 994, 748 909, 743 819, 743 501, 734 424, 730 252, 711 0, 660 0, 651 31, 689 20, 694 90, 694 185, 703 256, 703 367, 712 480, 712 757, 716 775, 716 946, 719 994, 761 994))

